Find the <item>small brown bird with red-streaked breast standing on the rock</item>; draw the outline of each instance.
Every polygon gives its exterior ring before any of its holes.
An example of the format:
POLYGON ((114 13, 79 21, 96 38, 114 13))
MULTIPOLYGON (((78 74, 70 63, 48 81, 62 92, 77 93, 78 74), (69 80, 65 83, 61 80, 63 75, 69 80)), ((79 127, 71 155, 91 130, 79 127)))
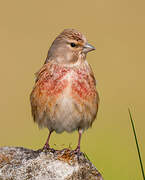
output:
POLYGON ((30 94, 34 122, 48 128, 43 149, 50 149, 52 132, 78 131, 75 152, 80 152, 82 133, 96 119, 99 95, 96 79, 86 60, 95 47, 76 29, 64 29, 53 41, 43 66, 36 72, 30 94))

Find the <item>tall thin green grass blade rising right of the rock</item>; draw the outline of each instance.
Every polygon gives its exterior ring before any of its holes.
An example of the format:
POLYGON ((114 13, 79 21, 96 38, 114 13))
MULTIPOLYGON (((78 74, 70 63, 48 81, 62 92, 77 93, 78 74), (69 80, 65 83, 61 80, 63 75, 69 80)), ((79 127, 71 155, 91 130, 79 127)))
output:
POLYGON ((136 143, 136 147, 137 147, 137 152, 138 152, 138 157, 139 157, 139 161, 140 161, 140 167, 141 167, 141 171, 142 171, 142 176, 143 176, 143 180, 145 180, 145 174, 144 174, 144 169, 143 169, 143 163, 142 163, 142 159, 141 159, 139 144, 138 144, 138 140, 137 140, 137 136, 136 136, 136 132, 135 132, 135 126, 134 126, 134 123, 133 123, 132 115, 131 115, 131 112, 130 112, 129 108, 128 108, 128 112, 129 112, 131 125, 132 125, 132 129, 133 129, 133 134, 134 134, 134 138, 135 138, 135 143, 136 143))

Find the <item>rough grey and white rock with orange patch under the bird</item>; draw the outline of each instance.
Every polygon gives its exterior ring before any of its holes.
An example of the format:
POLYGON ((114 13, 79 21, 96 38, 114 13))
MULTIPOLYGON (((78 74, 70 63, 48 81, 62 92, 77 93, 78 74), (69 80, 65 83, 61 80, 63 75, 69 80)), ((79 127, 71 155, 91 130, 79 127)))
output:
POLYGON ((0 148, 0 180, 103 180, 83 153, 0 148))

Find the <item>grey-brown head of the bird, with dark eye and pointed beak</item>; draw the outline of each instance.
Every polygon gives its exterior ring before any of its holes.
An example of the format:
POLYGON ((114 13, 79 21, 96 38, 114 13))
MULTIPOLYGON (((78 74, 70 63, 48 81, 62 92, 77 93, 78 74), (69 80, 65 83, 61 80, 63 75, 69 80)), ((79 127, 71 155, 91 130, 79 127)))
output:
POLYGON ((53 41, 46 58, 55 60, 60 64, 74 64, 79 60, 85 60, 86 54, 95 48, 88 44, 84 35, 75 29, 65 29, 53 41))

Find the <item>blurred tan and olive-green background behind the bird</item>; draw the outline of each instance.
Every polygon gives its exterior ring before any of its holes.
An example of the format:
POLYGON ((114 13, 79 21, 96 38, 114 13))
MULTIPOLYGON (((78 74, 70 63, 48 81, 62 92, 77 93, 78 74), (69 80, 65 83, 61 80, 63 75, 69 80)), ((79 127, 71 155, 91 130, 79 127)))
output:
MULTIPOLYGON (((128 115, 130 107, 145 162, 145 1, 0 1, 0 145, 38 149, 48 130, 33 123, 34 73, 64 28, 85 34, 98 81, 100 108, 81 148, 104 179, 141 179, 128 115)), ((77 144, 77 132, 55 134, 51 145, 77 144)))

